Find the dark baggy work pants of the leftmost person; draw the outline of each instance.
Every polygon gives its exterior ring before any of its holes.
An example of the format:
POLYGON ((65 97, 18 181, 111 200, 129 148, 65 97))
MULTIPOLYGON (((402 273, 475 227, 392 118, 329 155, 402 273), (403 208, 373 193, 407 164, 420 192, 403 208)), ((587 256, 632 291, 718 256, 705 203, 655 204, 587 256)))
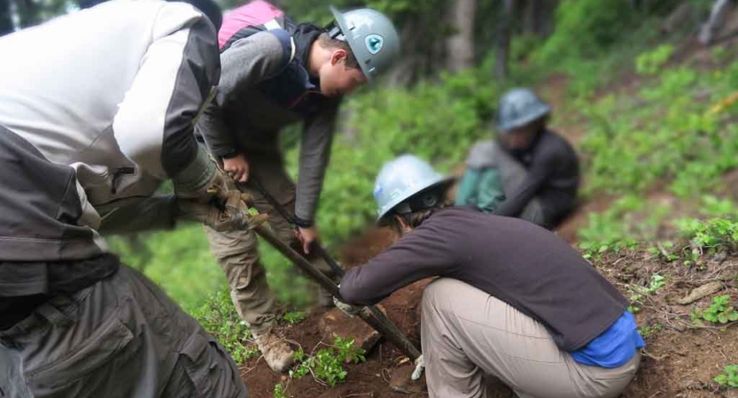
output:
POLYGON ((4 398, 247 398, 213 336, 121 265, 0 332, 4 398))

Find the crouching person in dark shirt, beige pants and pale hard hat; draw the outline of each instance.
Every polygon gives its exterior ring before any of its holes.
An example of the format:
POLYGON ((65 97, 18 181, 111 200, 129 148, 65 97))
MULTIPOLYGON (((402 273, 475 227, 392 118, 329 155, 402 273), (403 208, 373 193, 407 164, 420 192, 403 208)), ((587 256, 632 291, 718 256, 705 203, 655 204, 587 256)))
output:
POLYGON ((449 184, 416 157, 384 166, 374 191, 379 222, 401 237, 346 272, 338 307, 352 312, 440 277, 423 292, 416 361, 431 397, 488 396, 490 376, 522 397, 618 396, 644 347, 625 297, 554 233, 447 208, 449 184))

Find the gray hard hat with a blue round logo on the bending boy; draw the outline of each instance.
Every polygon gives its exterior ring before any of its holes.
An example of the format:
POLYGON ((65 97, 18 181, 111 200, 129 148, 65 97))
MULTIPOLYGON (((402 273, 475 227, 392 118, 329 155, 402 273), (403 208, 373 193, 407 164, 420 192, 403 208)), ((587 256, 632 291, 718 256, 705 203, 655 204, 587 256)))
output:
POLYGON ((367 80, 385 72, 400 56, 400 36, 385 14, 368 8, 341 12, 330 7, 330 11, 338 26, 330 37, 348 43, 367 80))

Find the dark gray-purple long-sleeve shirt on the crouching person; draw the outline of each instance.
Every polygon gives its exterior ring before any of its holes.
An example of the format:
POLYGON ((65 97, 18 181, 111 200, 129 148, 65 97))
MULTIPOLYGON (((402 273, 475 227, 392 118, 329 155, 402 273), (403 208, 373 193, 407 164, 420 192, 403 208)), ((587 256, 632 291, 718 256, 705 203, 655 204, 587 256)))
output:
POLYGON ((459 279, 548 328, 559 348, 584 347, 627 301, 579 252, 518 218, 469 207, 441 210, 369 263, 346 272, 341 296, 373 304, 423 278, 459 279))

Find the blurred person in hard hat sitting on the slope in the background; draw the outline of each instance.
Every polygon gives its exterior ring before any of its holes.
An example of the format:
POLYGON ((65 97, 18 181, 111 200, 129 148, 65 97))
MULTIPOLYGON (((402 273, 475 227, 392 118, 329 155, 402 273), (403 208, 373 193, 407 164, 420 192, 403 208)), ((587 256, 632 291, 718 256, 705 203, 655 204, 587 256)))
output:
POLYGON ((496 142, 479 142, 467 158, 456 204, 553 228, 575 206, 577 154, 546 126, 551 108, 530 89, 502 96, 496 142))

